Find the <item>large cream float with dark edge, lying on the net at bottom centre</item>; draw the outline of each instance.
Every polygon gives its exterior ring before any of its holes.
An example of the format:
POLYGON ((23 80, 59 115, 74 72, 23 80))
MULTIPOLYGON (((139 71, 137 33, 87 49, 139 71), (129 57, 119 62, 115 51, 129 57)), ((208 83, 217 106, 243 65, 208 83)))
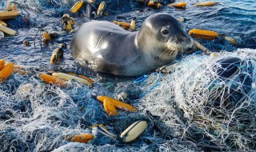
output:
POLYGON ((138 121, 131 124, 126 130, 122 132, 120 137, 123 139, 122 142, 132 142, 135 138, 138 138, 144 130, 146 130, 147 122, 138 121))

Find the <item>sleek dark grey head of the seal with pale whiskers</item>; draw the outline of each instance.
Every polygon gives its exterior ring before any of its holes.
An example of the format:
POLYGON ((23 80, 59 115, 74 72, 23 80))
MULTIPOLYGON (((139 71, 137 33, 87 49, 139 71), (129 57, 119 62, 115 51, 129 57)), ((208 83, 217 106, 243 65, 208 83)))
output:
POLYGON ((166 13, 153 14, 143 22, 136 37, 140 50, 162 60, 175 58, 179 52, 191 48, 193 39, 183 30, 176 18, 166 13))

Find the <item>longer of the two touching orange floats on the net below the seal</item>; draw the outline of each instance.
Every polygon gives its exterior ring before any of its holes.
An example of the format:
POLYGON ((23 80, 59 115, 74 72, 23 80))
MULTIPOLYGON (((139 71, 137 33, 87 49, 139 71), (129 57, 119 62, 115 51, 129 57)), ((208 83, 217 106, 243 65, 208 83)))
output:
POLYGON ((102 102, 102 103, 104 102, 104 99, 108 99, 110 102, 112 102, 114 104, 114 107, 118 110, 124 110, 124 111, 130 111, 130 112, 138 111, 134 108, 134 106, 130 106, 124 102, 115 100, 114 98, 110 98, 110 97, 106 97, 106 96, 98 96, 97 99, 99 102, 102 102))

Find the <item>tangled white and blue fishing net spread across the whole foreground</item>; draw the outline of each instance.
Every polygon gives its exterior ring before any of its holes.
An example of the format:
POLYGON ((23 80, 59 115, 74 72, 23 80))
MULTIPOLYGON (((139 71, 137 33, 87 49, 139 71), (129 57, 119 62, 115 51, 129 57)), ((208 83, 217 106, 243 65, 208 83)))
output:
POLYGON ((192 55, 169 74, 150 74, 141 84, 95 82, 92 88, 69 81, 61 88, 34 75, 12 74, 0 84, 2 151, 198 151, 255 150, 256 50, 223 52, 218 58, 192 55), (238 70, 219 78, 214 68, 224 58, 239 58, 238 70), (108 117, 95 95, 116 96, 138 113, 118 110, 108 117), (121 134, 138 120, 149 123, 134 142, 122 143, 98 132, 103 124, 121 134), (88 143, 66 141, 94 134, 88 143))

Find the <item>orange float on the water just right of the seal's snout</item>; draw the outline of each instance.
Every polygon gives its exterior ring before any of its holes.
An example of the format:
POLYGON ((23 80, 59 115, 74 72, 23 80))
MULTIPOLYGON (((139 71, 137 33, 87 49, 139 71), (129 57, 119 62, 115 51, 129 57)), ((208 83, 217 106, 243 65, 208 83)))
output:
POLYGON ((211 30, 192 29, 189 31, 189 34, 191 37, 194 38, 203 38, 208 40, 218 38, 218 34, 211 30))

